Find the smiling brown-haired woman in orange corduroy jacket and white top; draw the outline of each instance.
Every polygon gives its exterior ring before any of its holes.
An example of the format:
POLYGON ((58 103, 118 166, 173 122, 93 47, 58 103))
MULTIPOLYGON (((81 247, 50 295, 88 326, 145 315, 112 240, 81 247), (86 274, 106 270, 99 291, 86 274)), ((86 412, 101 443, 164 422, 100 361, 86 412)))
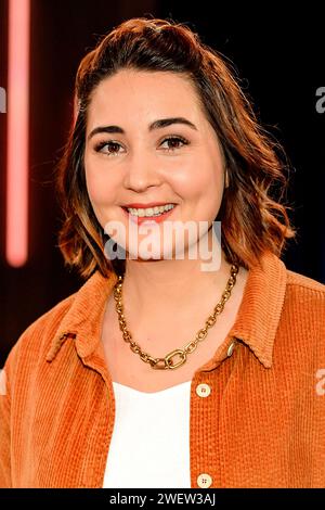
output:
POLYGON ((280 258, 285 166, 230 68, 129 20, 76 109, 60 247, 87 281, 6 359, 0 485, 324 487, 325 286, 280 258))

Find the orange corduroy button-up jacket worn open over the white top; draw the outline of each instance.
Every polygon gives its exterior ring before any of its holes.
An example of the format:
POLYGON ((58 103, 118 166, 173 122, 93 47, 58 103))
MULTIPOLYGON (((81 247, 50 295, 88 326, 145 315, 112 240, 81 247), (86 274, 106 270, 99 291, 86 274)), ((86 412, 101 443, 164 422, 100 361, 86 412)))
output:
MULTIPOLYGON (((96 271, 12 347, 0 487, 103 486, 115 397, 101 328, 115 282, 96 271)), ((249 270, 233 328, 193 377, 188 447, 194 488, 203 474, 210 488, 325 487, 325 285, 272 254, 249 270)))

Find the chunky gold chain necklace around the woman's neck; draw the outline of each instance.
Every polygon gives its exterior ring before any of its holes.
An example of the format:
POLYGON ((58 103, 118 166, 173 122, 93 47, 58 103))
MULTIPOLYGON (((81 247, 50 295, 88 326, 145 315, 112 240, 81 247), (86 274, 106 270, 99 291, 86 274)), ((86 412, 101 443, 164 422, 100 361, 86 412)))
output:
POLYGON ((230 298, 231 293, 232 293, 232 289, 236 283, 236 275, 237 275, 238 270, 239 270, 239 268, 236 264, 233 264, 231 266, 231 276, 227 280, 227 283, 226 283, 225 290, 224 290, 224 292, 221 296, 221 299, 214 306, 213 313, 206 320, 206 326, 196 333, 195 339, 192 340, 191 342, 188 342, 188 344, 186 344, 182 349, 177 348, 177 349, 172 350, 171 353, 167 354, 165 356, 165 358, 153 358, 147 353, 144 353, 141 349, 140 345, 138 345, 132 340, 132 335, 127 329, 127 322, 126 322, 126 318, 125 318, 125 315, 123 315, 123 306, 122 306, 122 302, 121 302, 121 297, 122 297, 121 290, 122 290, 123 277, 119 276, 118 281, 114 285, 114 298, 116 301, 116 311, 117 311, 117 315, 118 315, 119 329, 122 332, 122 336, 123 336, 125 342, 130 344, 130 349, 133 353, 139 354, 142 361, 144 361, 146 364, 148 362, 151 365, 151 367, 155 370, 174 369, 174 368, 181 367, 186 361, 186 355, 192 354, 193 350, 196 349, 198 342, 202 342, 207 336, 208 329, 211 328, 214 324, 214 322, 217 320, 217 316, 220 315, 221 311, 223 310, 224 304, 230 298), (179 361, 173 362, 172 358, 174 358, 176 356, 180 356, 180 359, 179 359, 179 361))

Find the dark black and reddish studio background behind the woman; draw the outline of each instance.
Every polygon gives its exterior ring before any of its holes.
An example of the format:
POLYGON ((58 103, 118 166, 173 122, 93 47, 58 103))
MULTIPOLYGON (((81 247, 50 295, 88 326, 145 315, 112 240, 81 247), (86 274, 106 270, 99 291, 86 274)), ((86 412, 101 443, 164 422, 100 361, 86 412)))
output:
MULTIPOLYGON (((325 283, 324 127, 316 90, 325 87, 324 12, 316 4, 263 3, 263 11, 234 3, 142 0, 34 0, 31 2, 29 129, 29 259, 11 268, 5 241, 5 114, 0 114, 0 368, 35 319, 79 289, 56 247, 60 208, 53 169, 73 115, 79 61, 98 37, 120 22, 152 14, 185 22, 205 43, 235 65, 260 122, 284 145, 291 163, 287 200, 298 229, 282 259, 288 269, 325 283), (217 7, 216 7, 217 5, 217 7)), ((6 88, 8 1, 0 0, 0 86, 6 88)), ((9 93, 9 91, 8 91, 9 93)), ((325 105, 325 102, 324 102, 325 105)), ((18 148, 17 148, 18 150, 18 148)))

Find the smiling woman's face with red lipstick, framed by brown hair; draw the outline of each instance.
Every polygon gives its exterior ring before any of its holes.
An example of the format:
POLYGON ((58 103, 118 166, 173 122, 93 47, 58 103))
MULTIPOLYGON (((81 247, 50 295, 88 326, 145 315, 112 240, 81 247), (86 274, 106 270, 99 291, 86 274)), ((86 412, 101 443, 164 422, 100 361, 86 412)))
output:
MULTIPOLYGON (((161 217, 165 221, 209 226, 221 205, 223 160, 217 135, 194 86, 171 72, 122 69, 100 82, 88 110, 84 168, 99 222, 123 227, 129 254, 136 253, 130 227, 139 229, 140 224, 131 221, 134 217, 123 208, 128 204, 176 204, 161 217), (161 123, 176 118, 185 120, 161 123)), ((165 243, 158 258, 174 253, 173 242, 166 246, 164 220, 152 225, 158 229, 159 246, 165 243)), ((110 237, 122 245, 118 234, 110 237)))

